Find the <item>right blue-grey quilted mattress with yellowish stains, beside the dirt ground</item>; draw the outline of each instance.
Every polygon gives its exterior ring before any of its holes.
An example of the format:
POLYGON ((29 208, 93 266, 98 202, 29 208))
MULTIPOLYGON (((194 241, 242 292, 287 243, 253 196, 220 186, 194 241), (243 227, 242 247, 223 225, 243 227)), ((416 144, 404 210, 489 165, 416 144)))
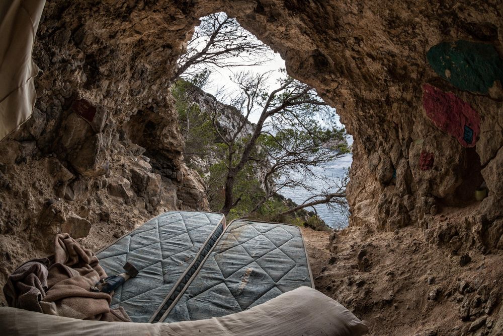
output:
POLYGON ((182 290, 166 296, 150 321, 224 316, 301 286, 314 288, 300 228, 235 220, 182 290))

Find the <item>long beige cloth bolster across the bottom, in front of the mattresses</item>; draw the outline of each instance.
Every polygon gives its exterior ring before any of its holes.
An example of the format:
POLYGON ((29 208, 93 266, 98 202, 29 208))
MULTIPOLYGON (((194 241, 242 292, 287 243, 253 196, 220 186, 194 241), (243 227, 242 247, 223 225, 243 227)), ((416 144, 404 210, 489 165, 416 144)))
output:
POLYGON ((8 335, 333 335, 358 336, 367 327, 324 294, 301 287, 249 310, 199 321, 127 323, 82 321, 2 307, 0 330, 8 335))

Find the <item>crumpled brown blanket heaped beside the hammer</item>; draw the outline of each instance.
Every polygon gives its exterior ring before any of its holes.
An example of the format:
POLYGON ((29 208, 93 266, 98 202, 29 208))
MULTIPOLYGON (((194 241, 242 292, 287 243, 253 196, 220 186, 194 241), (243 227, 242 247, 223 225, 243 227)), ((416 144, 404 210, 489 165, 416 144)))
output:
POLYGON ((34 259, 7 280, 5 297, 11 307, 51 315, 100 321, 131 321, 122 307, 110 309, 110 294, 90 292, 107 275, 96 255, 67 233, 56 235, 54 262, 34 259))

